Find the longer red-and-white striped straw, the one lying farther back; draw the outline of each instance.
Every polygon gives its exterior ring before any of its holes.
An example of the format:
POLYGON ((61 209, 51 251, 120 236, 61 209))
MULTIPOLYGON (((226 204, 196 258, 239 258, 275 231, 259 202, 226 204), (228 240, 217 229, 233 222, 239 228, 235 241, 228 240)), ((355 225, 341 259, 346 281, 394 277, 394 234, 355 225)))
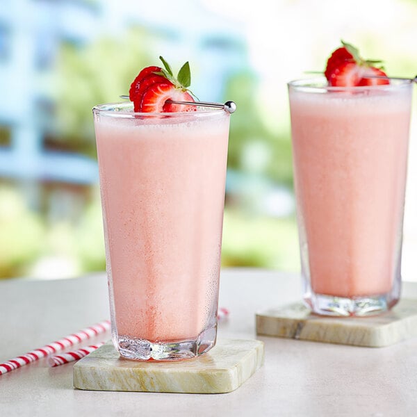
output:
POLYGON ((110 321, 104 320, 90 327, 86 327, 79 332, 61 338, 58 341, 49 343, 49 345, 44 345, 38 349, 31 350, 31 352, 28 352, 22 356, 10 359, 10 361, 0 363, 0 375, 20 368, 21 366, 25 366, 28 363, 38 361, 38 359, 47 357, 49 354, 64 350, 67 347, 81 343, 82 341, 85 341, 89 338, 98 336, 101 333, 107 332, 108 329, 110 329, 110 321))

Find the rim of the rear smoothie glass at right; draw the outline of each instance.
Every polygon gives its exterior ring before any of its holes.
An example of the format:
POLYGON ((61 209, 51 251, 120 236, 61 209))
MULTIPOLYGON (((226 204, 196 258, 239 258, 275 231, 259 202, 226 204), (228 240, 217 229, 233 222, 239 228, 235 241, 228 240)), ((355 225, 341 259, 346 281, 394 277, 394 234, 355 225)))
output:
POLYGON ((382 90, 392 90, 394 88, 402 88, 407 86, 412 86, 413 81, 410 79, 406 80, 390 80, 389 84, 379 84, 379 85, 351 85, 346 87, 338 87, 335 85, 328 85, 327 79, 325 76, 316 76, 306 79, 296 79, 289 81, 287 83, 288 88, 303 91, 303 92, 323 92, 323 91, 382 91, 382 90))

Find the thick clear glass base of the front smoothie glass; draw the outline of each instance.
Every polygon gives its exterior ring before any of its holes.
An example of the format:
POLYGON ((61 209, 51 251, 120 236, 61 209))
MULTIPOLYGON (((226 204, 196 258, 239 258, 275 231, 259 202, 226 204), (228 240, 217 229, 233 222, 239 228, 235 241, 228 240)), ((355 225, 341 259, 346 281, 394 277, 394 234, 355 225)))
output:
POLYGON ((211 327, 195 339, 183 341, 151 342, 139 338, 118 336, 115 347, 126 359, 137 361, 179 361, 191 359, 208 352, 215 345, 217 328, 211 327))

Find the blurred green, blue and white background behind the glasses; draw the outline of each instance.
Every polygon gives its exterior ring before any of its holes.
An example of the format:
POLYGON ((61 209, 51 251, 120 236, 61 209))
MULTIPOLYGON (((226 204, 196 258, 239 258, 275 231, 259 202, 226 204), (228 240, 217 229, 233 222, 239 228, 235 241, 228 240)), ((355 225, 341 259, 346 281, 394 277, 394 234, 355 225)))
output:
MULTIPOLYGON (((417 72, 416 1, 349 5, 329 13, 330 0, 160 0, 158 10, 136 1, 2 0, 0 278, 104 270, 91 108, 118 101, 159 55, 174 68, 190 61, 200 99, 238 104, 222 265, 298 270, 286 82, 324 70, 341 38, 384 59, 389 74, 417 72)), ((407 204, 415 213, 413 190, 407 204)), ((413 279, 414 215, 406 214, 404 238, 413 279)))

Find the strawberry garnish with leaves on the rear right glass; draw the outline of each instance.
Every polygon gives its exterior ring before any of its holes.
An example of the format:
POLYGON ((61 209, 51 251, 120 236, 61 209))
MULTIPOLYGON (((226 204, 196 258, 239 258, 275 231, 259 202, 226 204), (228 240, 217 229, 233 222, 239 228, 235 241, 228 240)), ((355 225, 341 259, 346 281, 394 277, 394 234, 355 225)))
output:
POLYGON ((364 60, 359 50, 351 44, 342 41, 342 47, 336 49, 327 60, 325 76, 329 85, 338 87, 353 87, 357 85, 389 84, 389 79, 369 78, 372 76, 386 76, 374 66, 378 60, 364 60))

